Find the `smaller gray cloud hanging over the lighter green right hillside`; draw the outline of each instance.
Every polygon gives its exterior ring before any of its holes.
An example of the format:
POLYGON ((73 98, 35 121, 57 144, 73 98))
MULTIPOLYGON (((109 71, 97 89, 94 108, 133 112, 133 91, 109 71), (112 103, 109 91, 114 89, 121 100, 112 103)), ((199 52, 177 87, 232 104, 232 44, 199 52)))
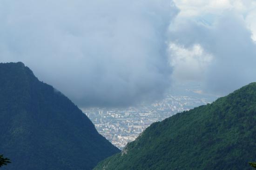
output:
MULTIPOLYGON (((211 24, 204 20, 179 20, 177 18, 171 25, 169 34, 170 42, 175 43, 171 52, 177 53, 176 46, 181 46, 185 51, 194 49, 194 46, 200 46, 203 49, 199 57, 197 56, 199 61, 196 64, 203 64, 202 69, 196 72, 197 78, 202 77, 200 81, 205 91, 218 95, 226 95, 243 85, 256 81, 256 43, 251 39, 251 35, 243 15, 234 13, 232 10, 223 12, 211 24), (202 63, 202 58, 206 59, 209 56, 210 61, 202 63)), ((177 58, 173 56, 174 54, 171 55, 172 60, 177 58)), ((188 59, 187 56, 183 60, 195 60, 195 56, 192 57, 188 59)), ((183 67, 183 74, 190 75, 189 78, 187 77, 189 80, 198 81, 191 71, 200 67, 191 62, 189 64, 183 67)), ((175 66, 177 65, 173 65, 174 72, 180 69, 175 66)), ((182 78, 182 72, 176 72, 176 74, 176 80, 182 78)))

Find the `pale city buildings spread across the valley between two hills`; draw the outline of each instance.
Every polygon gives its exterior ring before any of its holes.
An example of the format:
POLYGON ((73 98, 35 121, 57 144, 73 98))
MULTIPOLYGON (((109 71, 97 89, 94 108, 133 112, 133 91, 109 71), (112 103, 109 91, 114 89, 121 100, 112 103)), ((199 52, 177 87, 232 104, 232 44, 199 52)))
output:
POLYGON ((151 105, 129 108, 82 108, 81 110, 94 123, 97 131, 119 149, 132 142, 150 124, 204 105, 207 98, 167 95, 162 101, 151 105))

